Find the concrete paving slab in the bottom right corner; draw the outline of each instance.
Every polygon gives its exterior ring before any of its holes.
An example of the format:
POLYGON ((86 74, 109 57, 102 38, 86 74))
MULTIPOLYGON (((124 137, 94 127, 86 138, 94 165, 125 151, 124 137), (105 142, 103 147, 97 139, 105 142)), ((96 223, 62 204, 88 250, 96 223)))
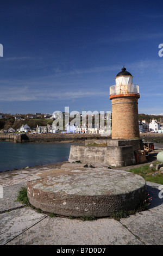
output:
POLYGON ((143 211, 120 221, 126 225, 145 245, 163 245, 163 215, 156 212, 143 211))

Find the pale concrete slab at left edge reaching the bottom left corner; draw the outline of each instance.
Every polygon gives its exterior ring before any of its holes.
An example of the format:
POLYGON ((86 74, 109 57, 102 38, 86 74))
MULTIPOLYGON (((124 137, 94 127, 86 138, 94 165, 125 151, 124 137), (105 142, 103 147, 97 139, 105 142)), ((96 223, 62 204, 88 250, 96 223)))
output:
POLYGON ((45 214, 38 214, 30 208, 0 214, 0 245, 5 245, 45 217, 45 214))

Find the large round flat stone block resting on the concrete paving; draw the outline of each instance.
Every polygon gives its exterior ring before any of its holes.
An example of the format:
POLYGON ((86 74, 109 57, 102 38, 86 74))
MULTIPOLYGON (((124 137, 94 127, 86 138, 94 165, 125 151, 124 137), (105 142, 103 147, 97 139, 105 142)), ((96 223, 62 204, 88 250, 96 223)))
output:
POLYGON ((146 181, 123 170, 62 168, 35 176, 27 184, 30 204, 64 216, 110 216, 136 209, 146 199, 146 181))

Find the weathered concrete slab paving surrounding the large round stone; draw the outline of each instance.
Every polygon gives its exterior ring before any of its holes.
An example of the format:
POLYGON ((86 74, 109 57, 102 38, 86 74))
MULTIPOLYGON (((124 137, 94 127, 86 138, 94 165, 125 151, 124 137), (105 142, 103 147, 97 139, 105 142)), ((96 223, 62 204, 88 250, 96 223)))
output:
POLYGON ((0 174, 0 245, 163 245, 163 192, 159 184, 147 182, 152 197, 149 210, 120 221, 108 217, 94 221, 49 217, 15 201, 32 175, 57 167, 50 164, 0 174))

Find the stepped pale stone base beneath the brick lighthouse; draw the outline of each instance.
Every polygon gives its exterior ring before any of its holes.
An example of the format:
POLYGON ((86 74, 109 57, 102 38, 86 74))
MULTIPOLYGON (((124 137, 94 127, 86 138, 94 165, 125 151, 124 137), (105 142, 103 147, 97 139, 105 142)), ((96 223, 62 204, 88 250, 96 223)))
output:
POLYGON ((72 145, 68 161, 122 167, 145 162, 146 155, 141 139, 91 139, 72 145))

